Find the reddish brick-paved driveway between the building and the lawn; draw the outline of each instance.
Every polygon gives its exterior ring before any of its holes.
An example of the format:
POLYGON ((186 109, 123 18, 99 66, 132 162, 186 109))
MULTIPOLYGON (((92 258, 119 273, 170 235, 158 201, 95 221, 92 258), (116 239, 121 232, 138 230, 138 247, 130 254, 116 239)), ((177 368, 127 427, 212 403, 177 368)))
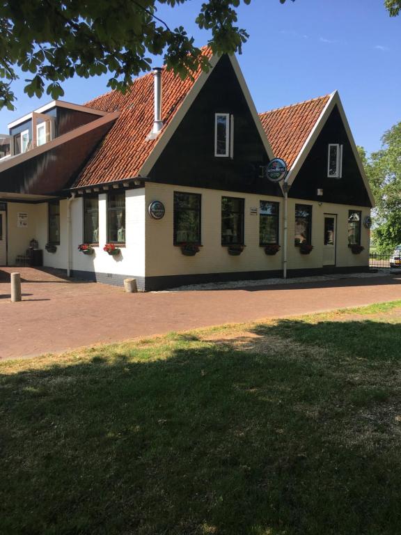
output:
POLYGON ((401 300, 401 275, 279 286, 126 294, 122 288, 70 281, 56 272, 18 268, 22 302, 10 302, 0 269, 0 357, 45 352, 193 329, 401 300))

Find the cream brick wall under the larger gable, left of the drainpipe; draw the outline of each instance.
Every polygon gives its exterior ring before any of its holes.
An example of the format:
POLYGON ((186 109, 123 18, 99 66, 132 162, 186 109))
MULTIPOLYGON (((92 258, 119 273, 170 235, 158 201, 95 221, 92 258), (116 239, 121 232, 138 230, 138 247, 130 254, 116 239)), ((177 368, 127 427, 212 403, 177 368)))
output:
POLYGON ((215 189, 146 184, 146 206, 162 201, 166 215, 157 221, 146 215, 146 276, 196 274, 253 270, 280 270, 281 252, 267 256, 259 247, 259 216, 250 215, 251 207, 259 207, 260 200, 278 201, 277 197, 223 192, 215 189), (195 256, 183 256, 180 247, 173 245, 173 192, 202 194, 202 245, 195 256), (221 246, 221 197, 245 199, 245 250, 230 256, 221 246))

